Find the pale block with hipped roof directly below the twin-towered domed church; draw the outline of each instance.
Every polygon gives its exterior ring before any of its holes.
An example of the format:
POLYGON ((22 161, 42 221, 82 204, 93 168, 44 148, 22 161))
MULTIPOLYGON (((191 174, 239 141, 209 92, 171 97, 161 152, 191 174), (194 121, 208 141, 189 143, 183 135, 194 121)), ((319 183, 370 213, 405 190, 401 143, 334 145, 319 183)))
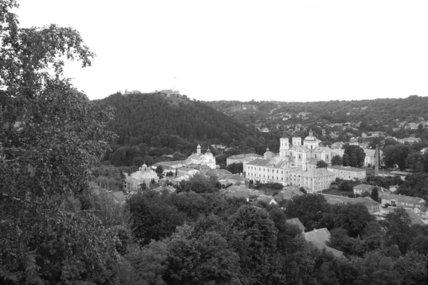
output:
POLYGON ((325 168, 315 168, 307 171, 298 170, 290 172, 291 185, 304 187, 308 193, 319 192, 330 188, 335 181, 336 175, 325 168))

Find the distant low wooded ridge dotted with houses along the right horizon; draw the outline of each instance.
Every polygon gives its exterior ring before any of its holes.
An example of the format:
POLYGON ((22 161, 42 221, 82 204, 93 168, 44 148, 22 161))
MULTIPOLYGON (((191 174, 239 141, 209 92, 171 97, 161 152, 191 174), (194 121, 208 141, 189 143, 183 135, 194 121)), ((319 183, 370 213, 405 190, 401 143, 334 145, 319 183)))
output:
POLYGON ((248 125, 269 128, 290 123, 365 122, 394 127, 400 122, 427 120, 428 97, 417 95, 404 99, 331 100, 320 102, 212 101, 216 110, 248 125))

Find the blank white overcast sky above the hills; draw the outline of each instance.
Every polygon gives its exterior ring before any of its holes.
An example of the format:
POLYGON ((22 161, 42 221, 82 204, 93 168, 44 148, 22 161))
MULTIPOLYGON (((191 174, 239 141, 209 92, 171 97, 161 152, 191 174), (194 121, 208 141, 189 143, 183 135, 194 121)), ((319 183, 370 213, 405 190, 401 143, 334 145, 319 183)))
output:
POLYGON ((81 33, 67 63, 90 99, 179 90, 196 100, 428 95, 428 1, 21 0, 21 27, 81 33))

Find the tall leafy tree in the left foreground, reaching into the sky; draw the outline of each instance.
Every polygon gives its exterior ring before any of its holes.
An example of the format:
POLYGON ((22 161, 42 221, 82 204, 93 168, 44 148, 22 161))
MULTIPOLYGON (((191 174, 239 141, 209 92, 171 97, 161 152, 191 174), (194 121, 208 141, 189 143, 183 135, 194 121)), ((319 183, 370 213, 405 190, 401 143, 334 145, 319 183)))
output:
POLYGON ((93 212, 68 207, 88 192, 112 118, 63 78, 63 58, 91 65, 73 28, 20 28, 0 2, 0 282, 103 283, 114 234, 93 212))

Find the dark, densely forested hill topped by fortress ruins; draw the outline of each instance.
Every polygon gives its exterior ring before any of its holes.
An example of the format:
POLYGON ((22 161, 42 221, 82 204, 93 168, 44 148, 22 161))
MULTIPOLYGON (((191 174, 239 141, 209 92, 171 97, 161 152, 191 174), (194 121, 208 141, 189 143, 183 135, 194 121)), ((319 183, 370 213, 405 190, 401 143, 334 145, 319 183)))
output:
POLYGON ((254 129, 185 95, 116 93, 98 101, 102 107, 116 109, 108 129, 118 139, 107 159, 118 166, 138 165, 146 156, 151 156, 146 157, 149 164, 161 155, 186 156, 198 143, 206 150, 211 144, 226 145, 256 135, 254 129))

